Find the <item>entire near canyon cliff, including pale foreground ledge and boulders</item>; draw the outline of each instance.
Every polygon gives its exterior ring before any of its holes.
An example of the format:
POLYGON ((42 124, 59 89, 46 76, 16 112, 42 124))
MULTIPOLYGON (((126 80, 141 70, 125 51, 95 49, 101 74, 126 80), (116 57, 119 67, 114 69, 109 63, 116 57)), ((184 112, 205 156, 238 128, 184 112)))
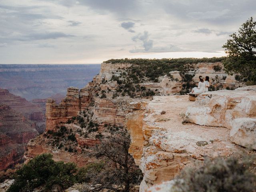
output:
POLYGON ((106 128, 124 126, 131 136, 129 153, 144 175, 144 192, 205 156, 230 156, 248 147, 245 141, 254 142, 254 86, 238 88, 244 83, 226 74, 221 62, 187 64, 184 72, 175 69, 154 79, 140 76, 137 66, 103 62, 84 88, 68 88, 60 103, 47 99, 46 132, 28 142, 25 159, 51 153, 56 161, 84 166, 94 162, 87 154, 109 134, 106 128), (191 84, 207 75, 213 88, 238 89, 206 92, 192 102, 180 95, 188 75, 191 84))

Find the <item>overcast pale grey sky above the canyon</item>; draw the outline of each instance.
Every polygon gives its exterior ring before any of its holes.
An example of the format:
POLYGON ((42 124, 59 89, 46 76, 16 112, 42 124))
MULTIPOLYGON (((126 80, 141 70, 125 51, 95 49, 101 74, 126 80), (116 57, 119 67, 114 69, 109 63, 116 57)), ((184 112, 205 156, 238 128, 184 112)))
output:
POLYGON ((0 64, 225 56, 256 0, 0 0, 0 64))

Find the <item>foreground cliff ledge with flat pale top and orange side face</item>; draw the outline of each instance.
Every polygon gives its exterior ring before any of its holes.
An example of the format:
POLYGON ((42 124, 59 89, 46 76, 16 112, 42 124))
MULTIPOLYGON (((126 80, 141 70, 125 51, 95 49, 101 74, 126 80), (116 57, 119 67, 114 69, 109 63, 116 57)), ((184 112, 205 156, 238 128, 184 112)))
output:
POLYGON ((144 174, 140 192, 172 180, 185 166, 206 155, 229 156, 240 150, 230 142, 227 128, 182 124, 186 108, 193 103, 187 97, 155 96, 146 106, 137 104, 127 116, 130 153, 144 174))

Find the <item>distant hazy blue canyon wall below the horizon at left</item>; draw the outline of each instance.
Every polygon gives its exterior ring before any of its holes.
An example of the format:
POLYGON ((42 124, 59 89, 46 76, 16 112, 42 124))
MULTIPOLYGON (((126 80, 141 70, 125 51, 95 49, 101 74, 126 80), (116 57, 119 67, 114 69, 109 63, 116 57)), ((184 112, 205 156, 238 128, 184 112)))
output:
POLYGON ((99 70, 99 64, 0 64, 0 88, 28 101, 49 98, 70 86, 82 88, 99 70))

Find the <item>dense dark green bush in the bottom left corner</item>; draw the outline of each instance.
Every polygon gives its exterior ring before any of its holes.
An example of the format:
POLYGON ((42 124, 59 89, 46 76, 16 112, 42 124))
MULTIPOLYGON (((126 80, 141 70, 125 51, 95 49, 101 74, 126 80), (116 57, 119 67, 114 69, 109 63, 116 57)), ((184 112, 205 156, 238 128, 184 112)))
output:
POLYGON ((41 154, 16 171, 15 182, 7 192, 31 192, 41 185, 43 191, 49 191, 54 184, 66 189, 75 183, 76 170, 74 163, 54 162, 51 154, 41 154))

